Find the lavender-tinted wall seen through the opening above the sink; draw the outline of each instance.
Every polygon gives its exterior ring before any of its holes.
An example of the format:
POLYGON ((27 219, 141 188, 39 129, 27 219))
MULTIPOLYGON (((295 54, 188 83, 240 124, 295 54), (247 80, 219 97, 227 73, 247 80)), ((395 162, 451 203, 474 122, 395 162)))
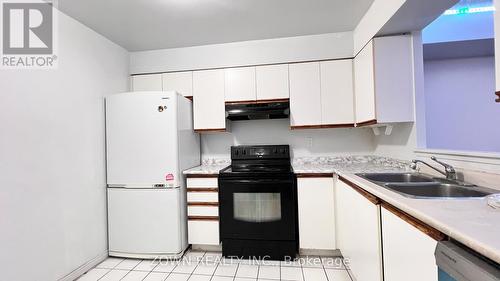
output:
POLYGON ((493 57, 425 62, 427 147, 500 152, 493 57))

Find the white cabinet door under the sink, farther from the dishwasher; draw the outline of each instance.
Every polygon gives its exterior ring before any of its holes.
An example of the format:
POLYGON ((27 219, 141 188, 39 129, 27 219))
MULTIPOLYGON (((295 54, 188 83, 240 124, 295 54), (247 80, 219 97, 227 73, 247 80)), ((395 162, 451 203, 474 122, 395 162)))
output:
POLYGON ((335 184, 337 246, 346 266, 357 281, 382 281, 380 205, 341 180, 335 184))

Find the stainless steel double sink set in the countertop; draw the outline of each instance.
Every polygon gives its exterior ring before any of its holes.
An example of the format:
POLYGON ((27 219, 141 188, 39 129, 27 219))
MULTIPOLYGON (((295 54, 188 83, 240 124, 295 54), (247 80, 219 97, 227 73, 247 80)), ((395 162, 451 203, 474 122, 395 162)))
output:
POLYGON ((362 173, 356 175, 411 198, 481 198, 498 192, 494 189, 458 180, 432 177, 421 173, 362 173))

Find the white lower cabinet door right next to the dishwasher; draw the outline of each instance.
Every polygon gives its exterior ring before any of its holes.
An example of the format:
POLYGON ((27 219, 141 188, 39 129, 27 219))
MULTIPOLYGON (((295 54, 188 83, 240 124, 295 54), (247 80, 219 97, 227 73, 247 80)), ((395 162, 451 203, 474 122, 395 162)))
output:
POLYGON ((437 241, 382 208, 385 281, 437 281, 437 241))

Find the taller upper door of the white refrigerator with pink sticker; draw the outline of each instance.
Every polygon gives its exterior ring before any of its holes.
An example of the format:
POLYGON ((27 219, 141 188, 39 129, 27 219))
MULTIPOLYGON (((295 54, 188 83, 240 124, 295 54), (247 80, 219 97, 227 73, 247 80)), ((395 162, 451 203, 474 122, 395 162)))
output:
POLYGON ((176 102, 174 92, 106 98, 108 185, 180 185, 176 102))

